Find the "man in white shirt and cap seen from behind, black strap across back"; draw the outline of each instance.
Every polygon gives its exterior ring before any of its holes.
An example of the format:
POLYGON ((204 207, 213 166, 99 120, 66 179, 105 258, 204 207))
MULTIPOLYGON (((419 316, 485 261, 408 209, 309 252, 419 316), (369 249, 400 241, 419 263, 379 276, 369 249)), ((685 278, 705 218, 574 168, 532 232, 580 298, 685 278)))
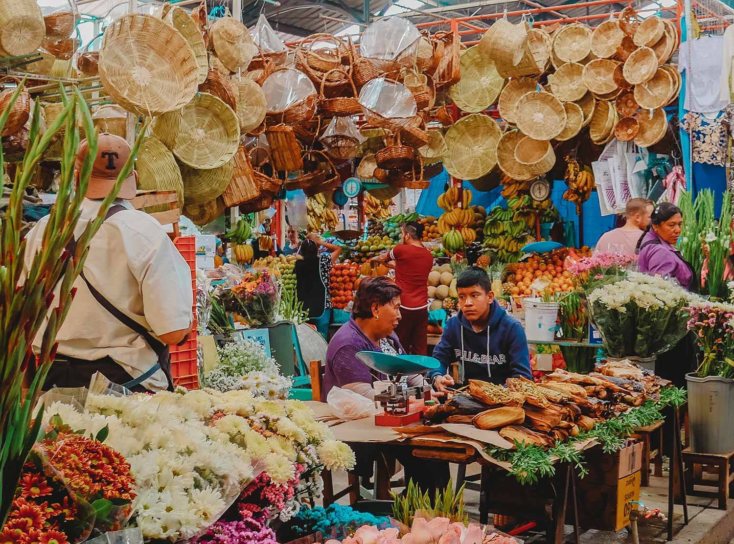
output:
MULTIPOLYGON (((87 140, 82 141, 77 179, 88 150, 87 140)), ((97 216, 129 155, 125 139, 99 135, 75 239, 97 216)), ((76 296, 57 334, 45 390, 87 386, 96 371, 131 391, 172 389, 168 347, 186 341, 192 330, 191 270, 159 222, 131 206, 136 186, 133 172, 90 243, 84 270, 74 282, 76 296)), ((47 223, 44 217, 28 234, 26 269, 40 250, 47 223)), ((36 335, 35 352, 45 327, 36 335)))

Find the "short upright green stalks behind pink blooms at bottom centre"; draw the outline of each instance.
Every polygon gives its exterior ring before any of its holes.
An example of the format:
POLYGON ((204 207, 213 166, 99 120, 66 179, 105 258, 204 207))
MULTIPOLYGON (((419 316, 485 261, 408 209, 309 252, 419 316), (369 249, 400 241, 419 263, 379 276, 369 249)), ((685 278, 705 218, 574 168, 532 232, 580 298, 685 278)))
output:
POLYGON ((454 482, 448 480, 445 490, 436 490, 433 501, 426 491, 422 493, 418 485, 411 479, 405 493, 392 493, 393 518, 410 527, 413 526, 415 512, 420 512, 424 518, 448 518, 451 523, 469 523, 469 515, 465 513, 464 487, 454 492, 454 482))

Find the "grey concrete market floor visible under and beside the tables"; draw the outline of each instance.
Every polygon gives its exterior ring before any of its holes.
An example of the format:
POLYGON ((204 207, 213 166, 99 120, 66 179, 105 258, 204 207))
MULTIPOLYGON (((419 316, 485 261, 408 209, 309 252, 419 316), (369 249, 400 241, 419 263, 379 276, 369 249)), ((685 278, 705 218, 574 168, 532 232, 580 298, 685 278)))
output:
MULTIPOLYGON (((451 474, 456 478, 457 465, 451 465, 451 474)), ((467 467, 467 475, 478 474, 479 465, 467 467)), ((335 472, 333 474, 334 489, 341 490, 346 487, 346 473, 335 472)), ((640 501, 650 509, 660 508, 667 514, 668 509, 668 479, 667 472, 664 477, 650 477, 650 486, 642 487, 640 501)), ((464 501, 471 521, 479 521, 479 492, 465 490, 464 501)), ((348 498, 341 498, 340 504, 349 504, 348 498)), ((713 499, 688 496, 688 518, 687 526, 683 526, 683 507, 675 507, 673 518, 674 537, 672 542, 676 544, 734 544, 734 500, 730 501, 729 509, 720 510, 716 508, 713 499)), ((567 542, 573 542, 573 531, 570 526, 566 527, 567 542)), ((667 524, 664 521, 640 521, 639 540, 640 544, 665 543, 667 536, 667 524)), ((545 543, 545 537, 520 535, 526 544, 545 543)), ((632 544, 631 535, 623 529, 619 532, 606 532, 588 530, 581 534, 581 544, 632 544)))

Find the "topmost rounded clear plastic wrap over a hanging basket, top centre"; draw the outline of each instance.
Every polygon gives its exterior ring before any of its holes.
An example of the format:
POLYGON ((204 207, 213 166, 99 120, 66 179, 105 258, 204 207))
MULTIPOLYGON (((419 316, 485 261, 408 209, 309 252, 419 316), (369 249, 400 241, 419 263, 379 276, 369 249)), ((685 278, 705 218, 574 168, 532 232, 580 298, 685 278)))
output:
POLYGON ((360 55, 385 70, 413 66, 421 32, 401 17, 385 17, 367 27, 360 39, 360 55))

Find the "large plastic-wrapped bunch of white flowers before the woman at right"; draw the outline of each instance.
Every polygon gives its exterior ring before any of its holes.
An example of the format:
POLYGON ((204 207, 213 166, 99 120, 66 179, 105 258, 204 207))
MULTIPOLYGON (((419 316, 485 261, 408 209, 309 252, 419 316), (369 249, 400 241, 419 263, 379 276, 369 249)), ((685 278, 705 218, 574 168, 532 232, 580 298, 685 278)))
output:
POLYGON ((686 335, 692 295, 663 278, 629 272, 628 278, 589 294, 589 309, 609 355, 651 357, 686 335))

